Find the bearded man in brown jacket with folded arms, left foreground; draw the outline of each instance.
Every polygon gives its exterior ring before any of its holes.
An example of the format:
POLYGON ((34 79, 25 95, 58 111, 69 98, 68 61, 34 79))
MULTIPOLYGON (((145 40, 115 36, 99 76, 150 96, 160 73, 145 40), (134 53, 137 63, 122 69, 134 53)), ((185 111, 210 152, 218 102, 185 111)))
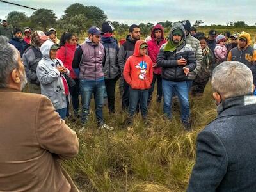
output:
POLYGON ((19 51, 0 36, 0 191, 78 191, 60 165, 78 153, 76 132, 25 85, 19 51))

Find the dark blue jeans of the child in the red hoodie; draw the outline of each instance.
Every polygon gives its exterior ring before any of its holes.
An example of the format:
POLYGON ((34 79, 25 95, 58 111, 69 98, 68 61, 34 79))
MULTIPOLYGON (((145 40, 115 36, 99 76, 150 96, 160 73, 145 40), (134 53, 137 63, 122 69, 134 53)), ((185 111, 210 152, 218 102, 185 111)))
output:
POLYGON ((129 108, 128 115, 133 116, 136 112, 138 104, 140 104, 140 111, 142 118, 146 118, 148 114, 148 90, 133 90, 129 87, 129 108))

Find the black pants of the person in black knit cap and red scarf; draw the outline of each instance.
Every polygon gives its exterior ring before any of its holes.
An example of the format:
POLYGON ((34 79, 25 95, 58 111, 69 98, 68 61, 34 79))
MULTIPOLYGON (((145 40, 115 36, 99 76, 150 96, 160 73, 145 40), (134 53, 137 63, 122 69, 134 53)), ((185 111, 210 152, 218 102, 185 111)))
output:
POLYGON ((118 80, 118 76, 115 79, 105 79, 105 86, 108 95, 108 112, 115 113, 115 88, 116 81, 118 80))

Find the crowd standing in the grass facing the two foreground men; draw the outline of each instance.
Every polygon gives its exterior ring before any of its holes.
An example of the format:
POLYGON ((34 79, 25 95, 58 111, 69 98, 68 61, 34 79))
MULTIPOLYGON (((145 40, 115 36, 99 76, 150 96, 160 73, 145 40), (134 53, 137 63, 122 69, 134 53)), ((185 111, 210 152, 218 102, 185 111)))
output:
MULTIPOLYGON (((5 20, 4 27, 8 28, 5 20)), ((82 44, 77 44, 76 36, 68 32, 58 40, 54 28, 46 33, 38 30, 32 33, 30 28, 15 29, 12 38, 8 29, 2 31, 22 56, 30 93, 49 97, 63 119, 70 116, 71 100, 74 117, 81 116, 82 124, 88 122, 93 95, 101 129, 113 130, 104 123, 102 108, 107 98, 109 114, 115 113, 118 79, 122 109, 128 114, 124 122, 127 127, 131 127, 136 111, 141 111, 143 121, 147 122, 148 106, 157 82, 156 101, 161 103, 163 97, 166 117, 172 118, 172 100, 177 97, 182 124, 190 130, 189 93, 194 96, 204 93, 214 67, 227 60, 241 61, 252 70, 254 81, 256 77, 253 65, 256 53, 250 46, 249 33, 217 34, 212 29, 206 37, 197 33, 189 20, 175 23, 167 38, 163 26, 156 24, 145 41, 141 40, 140 27, 132 24, 120 45, 108 22, 102 24, 101 30, 92 26, 82 44)))

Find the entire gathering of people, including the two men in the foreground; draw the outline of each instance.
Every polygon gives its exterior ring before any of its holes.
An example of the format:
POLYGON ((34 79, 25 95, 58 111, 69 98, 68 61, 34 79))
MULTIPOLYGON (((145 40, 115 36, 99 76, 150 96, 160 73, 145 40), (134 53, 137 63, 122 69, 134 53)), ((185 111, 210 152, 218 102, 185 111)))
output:
POLYGON ((108 98, 109 114, 115 113, 118 79, 128 128, 138 111, 147 126, 157 82, 156 101, 163 97, 164 115, 172 118, 177 97, 186 131, 191 130, 189 93, 202 95, 211 79, 218 116, 198 134, 188 191, 255 190, 256 51, 249 33, 222 35, 212 29, 206 37, 184 20, 167 38, 157 24, 141 40, 140 27, 132 24, 118 45, 113 27, 104 22, 77 44, 68 32, 58 40, 54 28, 11 34, 5 20, 2 25, 0 152, 6 155, 0 156, 0 191, 78 191, 59 161, 75 157, 79 142, 61 119, 70 115, 72 102, 74 117, 86 125, 93 95, 99 129, 113 130, 102 108, 108 98), (29 93, 20 92, 25 87, 29 93))

